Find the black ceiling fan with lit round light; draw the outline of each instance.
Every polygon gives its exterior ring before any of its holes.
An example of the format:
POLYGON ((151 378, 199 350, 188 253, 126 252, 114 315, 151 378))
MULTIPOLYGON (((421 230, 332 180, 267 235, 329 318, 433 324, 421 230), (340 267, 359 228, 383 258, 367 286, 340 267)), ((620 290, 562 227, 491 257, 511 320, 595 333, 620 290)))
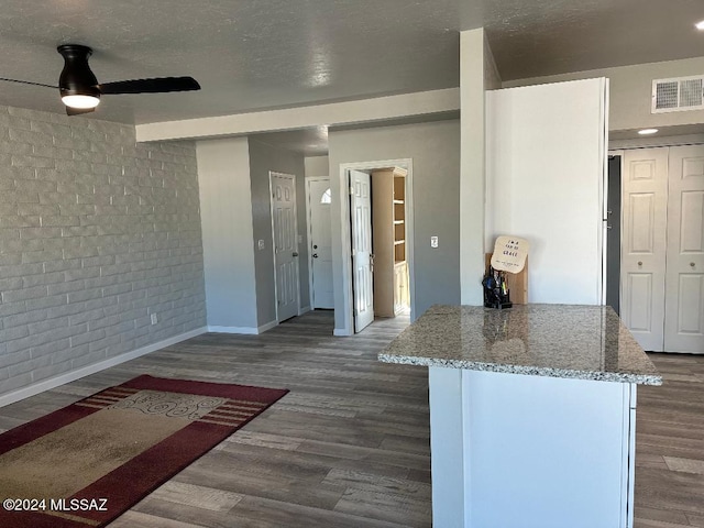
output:
POLYGON ((200 85, 193 77, 156 77, 99 84, 88 66, 88 58, 92 55, 90 47, 80 44, 63 44, 56 51, 64 57, 64 69, 58 77, 58 87, 28 80, 6 78, 0 80, 58 88, 68 116, 92 112, 100 102, 100 96, 103 95, 164 94, 200 89, 200 85))

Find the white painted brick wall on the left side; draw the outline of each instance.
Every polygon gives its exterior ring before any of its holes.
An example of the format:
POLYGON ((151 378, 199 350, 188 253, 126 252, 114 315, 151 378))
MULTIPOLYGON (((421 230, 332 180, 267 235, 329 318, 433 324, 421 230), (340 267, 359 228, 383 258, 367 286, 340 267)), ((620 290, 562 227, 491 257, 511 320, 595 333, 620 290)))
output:
POLYGON ((193 143, 0 107, 0 395, 204 327, 198 208, 193 143))

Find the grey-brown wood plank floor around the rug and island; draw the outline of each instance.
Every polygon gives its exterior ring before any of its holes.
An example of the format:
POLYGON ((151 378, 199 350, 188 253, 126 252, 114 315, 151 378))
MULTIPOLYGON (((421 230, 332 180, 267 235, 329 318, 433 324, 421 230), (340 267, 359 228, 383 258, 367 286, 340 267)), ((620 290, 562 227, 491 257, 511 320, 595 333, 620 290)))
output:
MULTIPOLYGON (((0 429, 145 373, 286 387, 110 527, 429 527, 427 370, 376 361, 407 323, 333 338, 332 312, 315 311, 262 336, 204 334, 0 408, 0 429)), ((636 527, 704 527, 704 356, 652 360, 666 384, 638 392, 636 527)))

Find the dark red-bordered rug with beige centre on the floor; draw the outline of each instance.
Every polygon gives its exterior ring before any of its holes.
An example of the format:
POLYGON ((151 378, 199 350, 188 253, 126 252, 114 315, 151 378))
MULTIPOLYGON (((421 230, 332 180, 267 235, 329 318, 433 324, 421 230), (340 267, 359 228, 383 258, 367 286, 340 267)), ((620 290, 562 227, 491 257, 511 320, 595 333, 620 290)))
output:
POLYGON ((143 375, 0 435, 0 527, 101 527, 288 391, 143 375))

